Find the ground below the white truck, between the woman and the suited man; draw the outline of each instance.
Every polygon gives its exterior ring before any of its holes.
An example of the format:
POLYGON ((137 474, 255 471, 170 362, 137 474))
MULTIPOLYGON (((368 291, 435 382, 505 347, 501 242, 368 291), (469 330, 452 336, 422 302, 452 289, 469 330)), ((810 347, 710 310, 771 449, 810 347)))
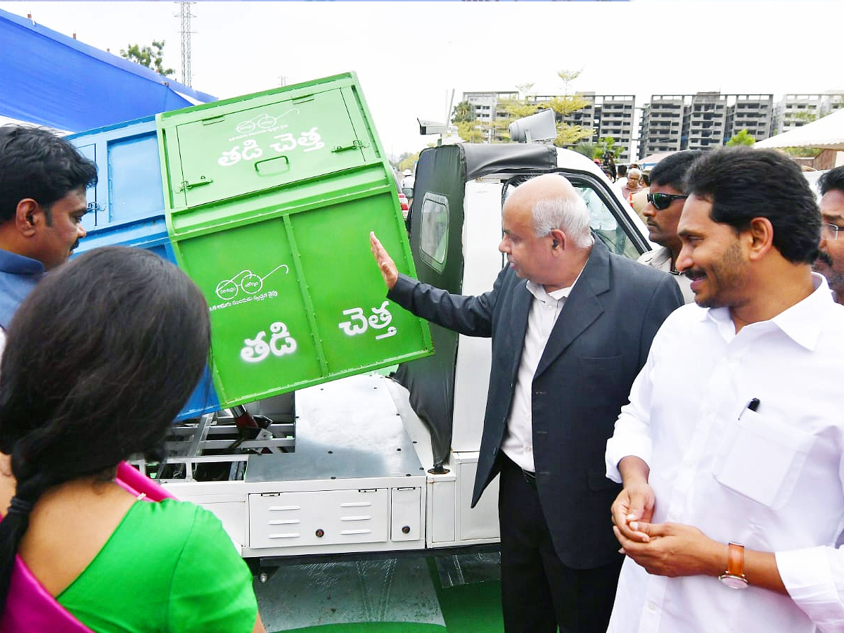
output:
POLYGON ((497 555, 344 560, 256 583, 268 631, 501 633, 497 555))

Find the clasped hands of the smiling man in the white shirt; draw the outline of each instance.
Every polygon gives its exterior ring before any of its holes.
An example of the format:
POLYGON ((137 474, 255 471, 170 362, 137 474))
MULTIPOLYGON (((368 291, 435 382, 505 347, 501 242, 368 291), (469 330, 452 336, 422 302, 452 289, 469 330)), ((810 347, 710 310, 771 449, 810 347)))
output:
POLYGON ((655 496, 646 482, 625 485, 613 506, 620 552, 656 576, 717 576, 719 544, 697 527, 652 523, 655 496), (714 566, 713 566, 714 565, 714 566))

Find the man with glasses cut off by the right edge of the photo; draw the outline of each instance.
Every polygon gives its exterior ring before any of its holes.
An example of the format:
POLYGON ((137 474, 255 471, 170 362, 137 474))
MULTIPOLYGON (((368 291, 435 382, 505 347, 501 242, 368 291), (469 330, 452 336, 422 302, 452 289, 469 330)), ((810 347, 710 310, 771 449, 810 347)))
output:
POLYGON ((844 304, 844 167, 828 171, 820 188, 820 253, 814 270, 821 273, 838 303, 844 304))

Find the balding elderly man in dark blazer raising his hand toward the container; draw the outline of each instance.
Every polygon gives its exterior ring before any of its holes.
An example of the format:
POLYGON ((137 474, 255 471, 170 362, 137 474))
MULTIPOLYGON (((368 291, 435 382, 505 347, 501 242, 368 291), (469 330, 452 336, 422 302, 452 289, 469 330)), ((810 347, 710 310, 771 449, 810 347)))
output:
POLYGON ((537 176, 504 204, 510 263, 490 292, 450 295, 399 274, 374 234, 387 297, 443 327, 492 337, 473 505, 500 473, 507 633, 603 633, 622 556, 603 453, 665 317, 674 279, 608 252, 569 181, 537 176))

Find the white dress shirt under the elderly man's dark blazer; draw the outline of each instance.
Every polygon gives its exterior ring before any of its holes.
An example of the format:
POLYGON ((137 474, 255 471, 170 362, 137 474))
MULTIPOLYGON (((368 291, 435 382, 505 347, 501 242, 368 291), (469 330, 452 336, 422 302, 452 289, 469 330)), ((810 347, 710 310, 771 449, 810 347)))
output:
POLYGON ((517 463, 519 468, 531 473, 536 470, 533 465, 533 375, 572 288, 574 284, 548 293, 543 286, 534 284, 533 281, 527 282, 533 302, 527 314, 522 360, 519 361, 513 402, 510 406, 510 416, 507 418, 507 432, 501 442, 501 450, 517 463))

